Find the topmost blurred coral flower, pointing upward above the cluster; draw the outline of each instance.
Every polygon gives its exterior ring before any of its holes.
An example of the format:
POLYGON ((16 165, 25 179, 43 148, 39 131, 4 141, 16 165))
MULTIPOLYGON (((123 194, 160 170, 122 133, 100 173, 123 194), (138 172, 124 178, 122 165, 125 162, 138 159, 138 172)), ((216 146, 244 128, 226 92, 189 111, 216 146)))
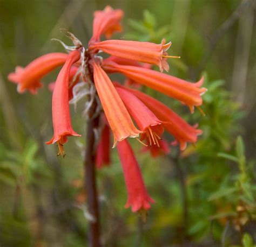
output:
POLYGON ((102 34, 105 34, 106 38, 109 39, 114 31, 121 32, 122 26, 119 23, 123 15, 123 10, 113 10, 111 6, 106 6, 104 10, 95 11, 93 34, 89 43, 98 42, 102 34))

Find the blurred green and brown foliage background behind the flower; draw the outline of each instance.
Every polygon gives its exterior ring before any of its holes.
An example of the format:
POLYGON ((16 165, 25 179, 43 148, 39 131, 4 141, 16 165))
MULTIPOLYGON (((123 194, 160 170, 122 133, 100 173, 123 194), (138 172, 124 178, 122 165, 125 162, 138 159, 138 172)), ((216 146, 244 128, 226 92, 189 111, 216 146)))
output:
MULTIPOLYGON (((52 137, 46 76, 37 95, 18 94, 7 75, 48 52, 63 51, 52 38, 86 46, 93 11, 124 10, 114 38, 172 41, 170 74, 208 88, 202 109, 190 115, 150 89, 204 134, 195 146, 152 159, 131 140, 145 184, 156 200, 146 223, 124 209, 126 190, 116 150, 98 171, 105 246, 253 246, 256 243, 256 20, 255 1, 238 0, 0 0, 0 246, 86 246, 83 190, 83 104, 71 107, 74 130, 66 157, 44 142, 52 137), (247 6, 249 5, 250 6, 247 6), (225 24, 224 24, 225 23, 225 24), (224 24, 224 25, 223 25, 224 24), (238 136, 242 136, 238 137, 238 136)), ((168 138, 168 137, 167 137, 168 138)))

